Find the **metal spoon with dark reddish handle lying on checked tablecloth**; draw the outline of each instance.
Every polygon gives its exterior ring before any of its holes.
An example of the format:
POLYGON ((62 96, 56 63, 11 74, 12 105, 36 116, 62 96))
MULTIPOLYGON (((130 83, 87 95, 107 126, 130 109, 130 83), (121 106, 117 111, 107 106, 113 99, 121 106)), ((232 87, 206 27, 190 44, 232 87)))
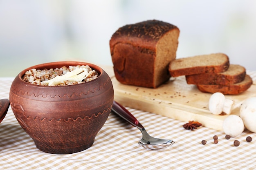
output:
POLYGON ((124 108, 124 106, 121 106, 121 104, 115 101, 112 105, 112 111, 141 131, 142 139, 139 141, 140 146, 146 149, 158 150, 171 146, 175 143, 173 140, 158 139, 148 135, 146 129, 139 123, 139 121, 126 108, 124 108))

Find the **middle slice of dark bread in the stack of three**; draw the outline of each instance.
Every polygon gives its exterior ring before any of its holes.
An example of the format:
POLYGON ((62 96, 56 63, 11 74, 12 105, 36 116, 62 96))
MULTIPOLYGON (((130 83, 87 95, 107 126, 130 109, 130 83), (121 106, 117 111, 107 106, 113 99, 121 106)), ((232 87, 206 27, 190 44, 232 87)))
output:
POLYGON ((204 73, 186 75, 187 84, 236 84, 245 79, 246 70, 243 66, 230 64, 227 71, 222 73, 204 73))

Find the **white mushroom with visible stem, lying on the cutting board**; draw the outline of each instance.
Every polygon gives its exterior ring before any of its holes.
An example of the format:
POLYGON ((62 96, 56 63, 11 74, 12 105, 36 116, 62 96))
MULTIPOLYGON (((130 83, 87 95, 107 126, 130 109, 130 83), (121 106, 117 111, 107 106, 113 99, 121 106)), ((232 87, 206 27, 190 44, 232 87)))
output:
POLYGON ((220 115, 222 112, 230 114, 234 101, 226 99, 220 92, 213 93, 209 99, 209 110, 213 115, 220 115))

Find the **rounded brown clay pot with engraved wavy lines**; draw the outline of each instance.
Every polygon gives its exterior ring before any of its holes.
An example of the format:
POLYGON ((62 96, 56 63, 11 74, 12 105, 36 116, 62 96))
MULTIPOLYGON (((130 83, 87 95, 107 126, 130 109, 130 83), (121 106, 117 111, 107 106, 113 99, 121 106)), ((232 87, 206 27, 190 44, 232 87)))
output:
POLYGON ((110 77, 99 66, 84 62, 52 62, 20 72, 10 89, 10 105, 20 126, 47 153, 69 154, 92 146, 112 107, 110 77), (40 86, 22 80, 31 69, 89 65, 96 79, 68 86, 40 86))

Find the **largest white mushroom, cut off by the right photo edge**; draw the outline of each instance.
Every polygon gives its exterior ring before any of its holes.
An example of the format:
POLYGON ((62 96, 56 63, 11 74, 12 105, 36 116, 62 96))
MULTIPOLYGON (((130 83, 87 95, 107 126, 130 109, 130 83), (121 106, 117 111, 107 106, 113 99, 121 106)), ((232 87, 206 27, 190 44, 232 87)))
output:
POLYGON ((256 133, 256 97, 246 99, 240 108, 240 117, 243 119, 245 127, 256 133))

